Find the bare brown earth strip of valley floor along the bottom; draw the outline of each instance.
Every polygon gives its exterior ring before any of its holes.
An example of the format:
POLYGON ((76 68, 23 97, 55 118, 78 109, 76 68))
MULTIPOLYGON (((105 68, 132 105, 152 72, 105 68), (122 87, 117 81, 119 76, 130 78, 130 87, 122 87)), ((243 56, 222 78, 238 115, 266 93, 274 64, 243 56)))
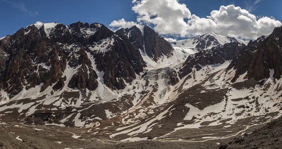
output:
POLYGON ((282 118, 264 126, 265 117, 242 119, 228 128, 220 125, 182 129, 135 142, 111 139, 106 133, 93 133, 89 128, 1 123, 0 149, 281 149, 282 118), (258 119, 261 125, 248 125, 252 119, 258 119))

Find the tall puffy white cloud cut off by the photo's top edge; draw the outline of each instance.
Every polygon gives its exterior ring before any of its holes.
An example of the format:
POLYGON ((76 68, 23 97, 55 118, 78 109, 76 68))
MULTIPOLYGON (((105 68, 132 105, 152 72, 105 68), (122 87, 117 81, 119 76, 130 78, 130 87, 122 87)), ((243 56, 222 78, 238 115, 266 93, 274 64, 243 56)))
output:
POLYGON ((191 18, 186 4, 177 0, 141 0, 132 10, 138 14, 137 21, 154 24, 154 29, 162 34, 178 34, 186 27, 184 19, 191 18))

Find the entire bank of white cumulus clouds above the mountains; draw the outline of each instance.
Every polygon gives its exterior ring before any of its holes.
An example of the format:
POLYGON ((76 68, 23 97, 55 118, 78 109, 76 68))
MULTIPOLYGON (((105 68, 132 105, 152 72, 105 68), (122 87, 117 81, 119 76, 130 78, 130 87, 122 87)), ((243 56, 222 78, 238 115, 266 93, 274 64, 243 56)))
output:
POLYGON ((211 11, 210 16, 200 18, 178 0, 133 0, 133 3, 132 10, 137 13, 138 23, 121 19, 113 21, 111 27, 149 24, 158 33, 171 36, 193 37, 212 31, 225 36, 255 39, 282 25, 275 18, 265 16, 258 19, 234 5, 220 6, 219 10, 211 11))

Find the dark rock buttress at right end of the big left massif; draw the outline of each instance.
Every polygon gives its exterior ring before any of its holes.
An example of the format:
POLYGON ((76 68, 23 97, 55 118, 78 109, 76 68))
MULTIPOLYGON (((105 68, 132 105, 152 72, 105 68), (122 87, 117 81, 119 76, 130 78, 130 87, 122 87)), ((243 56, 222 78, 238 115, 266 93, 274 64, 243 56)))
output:
MULTIPOLYGON (((114 40, 112 45, 109 45, 109 51, 95 52, 90 51, 95 57, 96 67, 99 71, 104 72, 104 83, 111 89, 123 89, 127 83, 130 83, 136 78, 136 74, 140 74, 145 67, 140 51, 132 45, 127 38, 121 39, 108 28, 102 28, 104 31, 97 31, 95 35, 99 37, 100 34, 106 32, 108 37, 104 34, 104 39, 114 40), (125 81, 125 82, 124 82, 125 81)), ((94 41, 101 40, 93 38, 94 41)), ((94 36, 93 36, 94 37, 94 36)))

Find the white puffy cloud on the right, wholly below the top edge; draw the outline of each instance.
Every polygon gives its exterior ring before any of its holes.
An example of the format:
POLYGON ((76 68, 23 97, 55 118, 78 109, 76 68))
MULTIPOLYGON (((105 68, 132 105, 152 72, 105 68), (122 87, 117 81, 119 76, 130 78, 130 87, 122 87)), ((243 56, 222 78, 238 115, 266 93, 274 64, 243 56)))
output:
POLYGON ((254 14, 234 5, 220 6, 219 10, 211 11, 211 18, 216 26, 213 32, 221 35, 255 39, 262 35, 270 34, 282 23, 274 18, 263 17, 257 20, 254 14))

